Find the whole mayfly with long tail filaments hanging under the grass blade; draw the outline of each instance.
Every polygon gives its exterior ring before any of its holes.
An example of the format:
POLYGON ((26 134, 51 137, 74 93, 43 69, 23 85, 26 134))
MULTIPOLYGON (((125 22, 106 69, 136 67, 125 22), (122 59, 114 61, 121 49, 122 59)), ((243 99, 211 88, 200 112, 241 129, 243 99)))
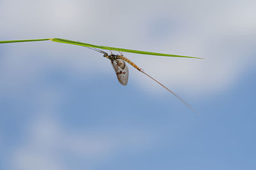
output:
POLYGON ((106 57, 107 59, 110 60, 115 73, 116 73, 116 77, 118 79, 118 81, 120 82, 121 85, 127 85, 128 83, 128 77, 129 77, 129 69, 128 66, 125 62, 131 64, 132 67, 134 67, 135 69, 137 69, 138 71, 140 71, 141 73, 147 75, 149 78, 151 78, 152 80, 156 81, 157 83, 159 83, 159 85, 161 85, 162 87, 164 87, 164 89, 168 90, 171 94, 173 94, 173 96, 177 97, 177 99, 179 99, 179 101, 181 101, 183 104, 185 104, 190 110, 194 111, 196 114, 198 114, 194 108, 192 108, 186 101, 184 101, 184 99, 182 99, 180 96, 178 96, 177 94, 175 94, 175 92, 172 92, 172 90, 168 89, 167 87, 165 87, 162 83, 160 83, 159 81, 157 81, 156 79, 152 78, 152 76, 148 75, 147 73, 145 73, 143 71, 143 69, 141 69, 140 67, 138 67, 136 64, 134 64, 134 62, 132 62, 131 60, 127 59, 126 57, 124 57, 124 55, 122 53, 120 53, 120 55, 116 55, 113 54, 111 52, 110 55, 108 55, 108 53, 99 50, 97 48, 92 48, 92 47, 87 47, 90 48, 92 50, 95 50, 97 52, 103 53, 103 57, 106 57))

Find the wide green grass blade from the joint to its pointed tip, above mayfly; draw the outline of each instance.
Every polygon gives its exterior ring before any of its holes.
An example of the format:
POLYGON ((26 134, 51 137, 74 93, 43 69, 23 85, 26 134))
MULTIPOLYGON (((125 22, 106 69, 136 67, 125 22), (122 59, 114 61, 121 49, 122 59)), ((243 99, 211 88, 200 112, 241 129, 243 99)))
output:
POLYGON ((51 40, 54 42, 58 42, 58 43, 67 43, 70 45, 88 46, 88 47, 100 48, 103 50, 113 50, 113 51, 118 51, 118 52, 141 53, 141 54, 146 54, 146 55, 159 55, 159 56, 167 56, 167 57, 186 57, 186 58, 193 58, 193 59, 202 59, 199 57, 189 57, 189 56, 173 55, 173 54, 166 54, 166 53, 155 53, 155 52, 144 52, 144 51, 139 51, 139 50, 129 50, 129 49, 125 49, 125 48, 115 48, 115 47, 110 47, 110 46, 91 45, 88 43, 81 43, 79 41, 71 41, 68 39, 61 39, 61 38, 52 38, 51 40))

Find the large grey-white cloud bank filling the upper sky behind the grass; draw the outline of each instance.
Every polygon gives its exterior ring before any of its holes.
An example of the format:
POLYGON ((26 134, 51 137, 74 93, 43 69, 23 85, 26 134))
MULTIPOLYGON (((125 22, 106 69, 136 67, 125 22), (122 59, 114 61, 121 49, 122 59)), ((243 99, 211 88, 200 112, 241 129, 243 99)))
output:
MULTIPOLYGON (((2 1, 0 31, 5 39, 57 36, 99 45, 204 57, 205 60, 185 60, 125 53, 170 89, 203 96, 234 85, 246 65, 255 60, 252 58, 255 6, 254 1, 2 1), (179 22, 173 24, 175 18, 179 22), (170 22, 166 24, 170 31, 163 28, 166 36, 161 36, 162 40, 156 39, 161 27, 156 32, 148 28, 159 23, 158 20, 170 22)), ((99 54, 95 52, 48 43, 49 52, 45 54, 52 53, 51 58, 61 55, 61 61, 52 58, 54 64, 60 62, 74 68, 70 70, 76 73, 90 76, 90 70, 97 67, 95 74, 100 76, 100 72, 111 67, 103 58, 96 58, 99 54), (91 64, 84 67, 84 63, 91 64)), ((33 53, 43 48, 42 44, 33 47, 33 53)), ((20 48, 26 49, 26 45, 20 48)), ((29 57, 16 63, 28 62, 29 57)), ((40 64, 35 67, 42 69, 40 64)), ((148 87, 154 92, 161 89, 139 73, 131 76, 132 82, 138 82, 142 89, 148 87)))

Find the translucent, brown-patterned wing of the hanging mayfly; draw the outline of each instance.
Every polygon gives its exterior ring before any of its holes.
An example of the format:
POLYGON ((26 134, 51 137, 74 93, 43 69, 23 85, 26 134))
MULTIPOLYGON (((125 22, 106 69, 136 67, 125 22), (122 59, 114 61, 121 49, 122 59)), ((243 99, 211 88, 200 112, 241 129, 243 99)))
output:
POLYGON ((116 76, 121 85, 127 85, 129 70, 122 59, 111 60, 111 64, 116 72, 116 76))

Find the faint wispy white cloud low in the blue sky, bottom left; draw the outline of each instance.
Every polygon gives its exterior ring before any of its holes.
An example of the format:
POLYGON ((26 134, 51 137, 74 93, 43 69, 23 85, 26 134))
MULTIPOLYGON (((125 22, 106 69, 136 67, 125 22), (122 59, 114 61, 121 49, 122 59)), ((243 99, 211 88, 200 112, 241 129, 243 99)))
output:
POLYGON ((140 129, 72 131, 52 116, 42 115, 28 125, 26 138, 13 150, 9 162, 13 169, 68 169, 76 158, 90 160, 86 166, 92 167, 120 150, 137 153, 154 142, 147 131, 140 129))

